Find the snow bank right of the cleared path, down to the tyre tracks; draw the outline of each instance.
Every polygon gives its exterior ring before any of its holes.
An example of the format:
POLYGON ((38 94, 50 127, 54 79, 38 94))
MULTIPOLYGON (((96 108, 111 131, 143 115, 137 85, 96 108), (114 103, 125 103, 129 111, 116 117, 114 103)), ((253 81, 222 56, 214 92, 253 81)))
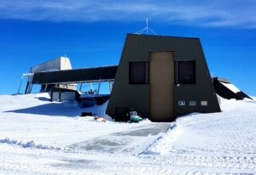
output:
POLYGON ((221 109, 219 113, 177 118, 148 151, 160 155, 182 151, 189 155, 256 157, 256 102, 221 99, 221 109))

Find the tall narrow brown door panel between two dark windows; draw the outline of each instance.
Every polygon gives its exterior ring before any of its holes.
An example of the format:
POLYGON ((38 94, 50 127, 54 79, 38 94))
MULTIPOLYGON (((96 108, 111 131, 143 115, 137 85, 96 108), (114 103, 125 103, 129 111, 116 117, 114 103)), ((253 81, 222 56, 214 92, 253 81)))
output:
POLYGON ((172 121, 173 52, 150 53, 150 120, 172 121))

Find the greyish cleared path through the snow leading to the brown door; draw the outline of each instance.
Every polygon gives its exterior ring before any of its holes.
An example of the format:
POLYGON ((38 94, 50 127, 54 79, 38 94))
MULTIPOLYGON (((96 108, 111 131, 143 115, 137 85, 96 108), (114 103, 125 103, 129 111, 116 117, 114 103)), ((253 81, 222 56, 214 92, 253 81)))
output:
POLYGON ((163 136, 169 127, 170 123, 167 122, 150 123, 125 130, 124 132, 84 140, 78 144, 69 145, 68 148, 82 152, 136 155, 143 152, 149 144, 163 136))

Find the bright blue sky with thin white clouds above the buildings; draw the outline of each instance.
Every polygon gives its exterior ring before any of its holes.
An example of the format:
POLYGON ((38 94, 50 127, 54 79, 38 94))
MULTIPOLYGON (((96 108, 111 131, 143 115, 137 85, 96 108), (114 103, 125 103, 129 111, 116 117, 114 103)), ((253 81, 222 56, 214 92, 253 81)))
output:
POLYGON ((200 37, 210 72, 256 96, 254 0, 0 0, 0 94, 22 73, 67 55, 73 68, 118 65, 126 33, 200 37))

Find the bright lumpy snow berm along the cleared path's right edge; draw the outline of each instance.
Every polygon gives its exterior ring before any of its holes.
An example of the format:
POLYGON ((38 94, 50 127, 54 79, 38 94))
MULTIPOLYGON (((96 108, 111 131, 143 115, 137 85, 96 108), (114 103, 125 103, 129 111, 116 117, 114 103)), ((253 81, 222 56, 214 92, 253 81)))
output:
POLYGON ((172 150, 172 143, 177 140, 178 137, 183 133, 182 127, 177 127, 174 122, 169 127, 166 135, 157 139, 152 145, 149 145, 148 149, 143 154, 165 154, 172 150))

